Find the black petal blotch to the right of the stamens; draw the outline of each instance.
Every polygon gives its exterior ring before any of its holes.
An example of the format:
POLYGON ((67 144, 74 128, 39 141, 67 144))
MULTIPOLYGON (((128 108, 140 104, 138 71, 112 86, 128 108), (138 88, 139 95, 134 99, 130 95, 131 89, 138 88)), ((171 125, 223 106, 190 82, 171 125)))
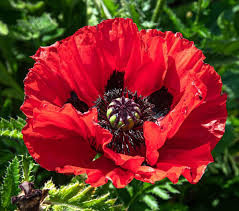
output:
POLYGON ((173 95, 168 92, 167 88, 162 87, 149 96, 149 102, 155 105, 152 109, 156 114, 155 118, 163 117, 170 111, 173 95))

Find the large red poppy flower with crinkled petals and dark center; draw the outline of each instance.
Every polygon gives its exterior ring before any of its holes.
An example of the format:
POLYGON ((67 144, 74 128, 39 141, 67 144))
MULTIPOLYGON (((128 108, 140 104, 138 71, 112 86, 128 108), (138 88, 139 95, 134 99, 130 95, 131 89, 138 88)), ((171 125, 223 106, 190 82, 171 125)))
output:
POLYGON ((196 183, 213 162, 226 96, 202 51, 180 33, 138 31, 116 18, 32 58, 22 132, 42 167, 121 188, 133 178, 196 183))

